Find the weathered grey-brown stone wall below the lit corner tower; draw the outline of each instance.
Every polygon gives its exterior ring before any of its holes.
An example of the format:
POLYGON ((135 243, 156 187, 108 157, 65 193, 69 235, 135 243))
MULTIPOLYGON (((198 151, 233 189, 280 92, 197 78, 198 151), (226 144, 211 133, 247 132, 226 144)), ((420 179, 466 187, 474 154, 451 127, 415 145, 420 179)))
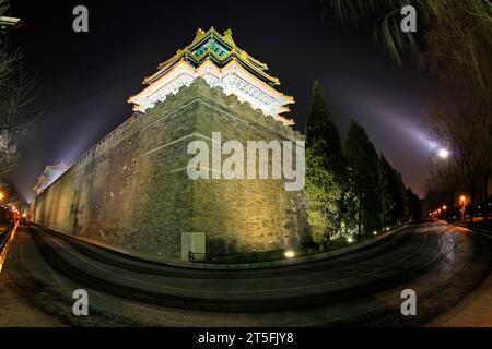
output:
POLYGON ((282 180, 196 180, 190 141, 300 140, 281 122, 201 79, 136 115, 37 196, 34 220, 163 261, 180 258, 181 232, 206 232, 207 252, 267 251, 309 240, 303 192, 282 180))

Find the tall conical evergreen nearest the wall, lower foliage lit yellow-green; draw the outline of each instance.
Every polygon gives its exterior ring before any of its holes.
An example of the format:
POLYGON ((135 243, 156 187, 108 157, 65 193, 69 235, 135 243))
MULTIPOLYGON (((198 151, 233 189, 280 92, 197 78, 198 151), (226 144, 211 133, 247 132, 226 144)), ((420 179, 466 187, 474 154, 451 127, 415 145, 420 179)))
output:
POLYGON ((345 164, 321 85, 315 82, 306 125, 306 196, 313 240, 326 244, 340 230, 345 164))

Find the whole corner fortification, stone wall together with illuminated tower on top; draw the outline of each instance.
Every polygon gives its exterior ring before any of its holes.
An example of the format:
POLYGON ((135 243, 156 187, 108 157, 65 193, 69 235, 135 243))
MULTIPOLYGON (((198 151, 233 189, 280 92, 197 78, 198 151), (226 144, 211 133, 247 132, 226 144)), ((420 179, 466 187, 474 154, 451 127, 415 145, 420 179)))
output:
POLYGON ((232 253, 308 241, 304 193, 285 191, 284 180, 194 181, 186 171, 189 142, 212 132, 239 142, 302 140, 280 116, 292 97, 266 70, 230 31, 198 31, 130 98, 134 115, 36 197, 33 219, 163 261, 180 260, 181 245, 232 253))

